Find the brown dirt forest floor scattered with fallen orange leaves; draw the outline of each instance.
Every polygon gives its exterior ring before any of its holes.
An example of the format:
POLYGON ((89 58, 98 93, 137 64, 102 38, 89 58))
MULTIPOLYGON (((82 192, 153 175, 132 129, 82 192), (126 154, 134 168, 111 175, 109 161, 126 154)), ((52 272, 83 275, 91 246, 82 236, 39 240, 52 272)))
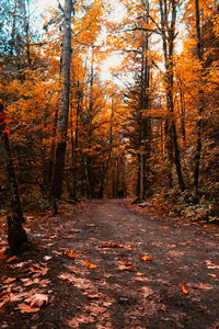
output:
POLYGON ((127 200, 28 216, 35 250, 5 257, 0 328, 219 328, 219 229, 127 200))

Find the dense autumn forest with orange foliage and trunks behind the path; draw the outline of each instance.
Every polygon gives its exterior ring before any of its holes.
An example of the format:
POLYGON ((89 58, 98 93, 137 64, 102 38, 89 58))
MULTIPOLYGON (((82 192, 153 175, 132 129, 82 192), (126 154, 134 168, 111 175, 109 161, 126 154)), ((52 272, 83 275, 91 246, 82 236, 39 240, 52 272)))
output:
POLYGON ((138 197, 217 222, 218 2, 36 7, 0 9, 1 214, 138 197))

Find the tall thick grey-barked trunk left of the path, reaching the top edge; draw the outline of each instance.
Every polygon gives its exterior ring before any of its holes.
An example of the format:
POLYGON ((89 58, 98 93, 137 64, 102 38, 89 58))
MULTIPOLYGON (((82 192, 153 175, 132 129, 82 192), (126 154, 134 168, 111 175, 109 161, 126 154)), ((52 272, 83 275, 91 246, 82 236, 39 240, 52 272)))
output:
POLYGON ((61 61, 61 100, 58 120, 58 141, 56 146, 55 163, 51 179, 51 197, 54 211, 58 212, 58 202, 61 197, 62 178, 65 170, 65 154, 67 145, 67 129, 69 115, 69 91, 70 91, 70 61, 71 61, 71 12, 72 0, 65 1, 64 9, 64 35, 62 35, 62 61, 61 61))

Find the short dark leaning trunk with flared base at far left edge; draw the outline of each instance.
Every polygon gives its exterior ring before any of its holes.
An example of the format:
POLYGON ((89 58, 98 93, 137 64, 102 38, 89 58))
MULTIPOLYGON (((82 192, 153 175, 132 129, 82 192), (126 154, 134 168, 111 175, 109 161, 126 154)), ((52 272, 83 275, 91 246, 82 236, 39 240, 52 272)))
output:
POLYGON ((11 216, 8 216, 8 241, 12 253, 19 254, 25 249, 25 246, 27 243, 27 236, 22 226, 24 217, 21 207, 16 175, 9 143, 9 135, 5 127, 5 114, 2 104, 0 104, 0 135, 5 152, 7 171, 11 191, 11 216))

